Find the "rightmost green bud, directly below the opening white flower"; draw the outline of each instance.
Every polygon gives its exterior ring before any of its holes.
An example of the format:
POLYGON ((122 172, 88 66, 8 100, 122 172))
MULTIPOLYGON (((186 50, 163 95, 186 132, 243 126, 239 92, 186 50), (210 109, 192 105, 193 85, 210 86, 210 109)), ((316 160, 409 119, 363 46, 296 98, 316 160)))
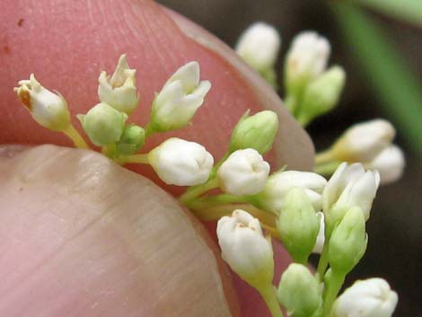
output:
POLYGON ((365 216, 359 207, 350 208, 330 237, 329 262, 332 269, 347 274, 361 260, 367 244, 365 216))

